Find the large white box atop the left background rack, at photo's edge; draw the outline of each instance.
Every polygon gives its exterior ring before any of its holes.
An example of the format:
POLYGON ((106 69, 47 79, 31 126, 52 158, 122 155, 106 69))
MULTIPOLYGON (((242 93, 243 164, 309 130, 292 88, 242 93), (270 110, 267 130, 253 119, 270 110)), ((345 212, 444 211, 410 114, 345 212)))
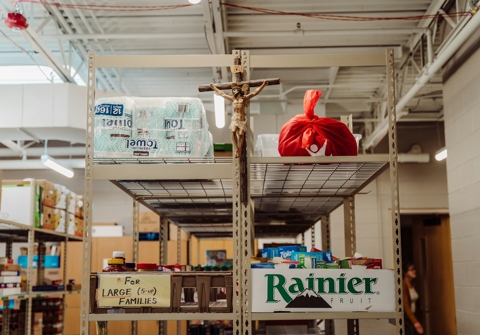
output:
POLYGON ((30 214, 34 210, 35 227, 43 227, 43 188, 35 187, 35 208, 31 205, 30 181, 3 181, 0 218, 32 225, 30 214))

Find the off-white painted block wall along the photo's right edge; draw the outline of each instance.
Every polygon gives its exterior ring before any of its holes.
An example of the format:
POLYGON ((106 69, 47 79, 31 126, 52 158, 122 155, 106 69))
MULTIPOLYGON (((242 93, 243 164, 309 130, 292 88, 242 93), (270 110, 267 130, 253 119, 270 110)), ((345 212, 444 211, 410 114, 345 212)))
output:
POLYGON ((450 231, 459 335, 480 329, 480 49, 444 83, 450 231))

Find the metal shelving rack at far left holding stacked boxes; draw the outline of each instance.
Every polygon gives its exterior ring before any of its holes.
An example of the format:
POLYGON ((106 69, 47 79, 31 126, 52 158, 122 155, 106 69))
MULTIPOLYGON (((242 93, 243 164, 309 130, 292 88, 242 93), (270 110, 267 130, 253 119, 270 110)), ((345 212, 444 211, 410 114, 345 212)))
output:
MULTIPOLYGON (((43 229, 35 227, 35 179, 30 179, 30 222, 31 225, 25 225, 17 222, 12 222, 4 219, 0 219, 0 242, 6 243, 5 257, 12 258, 12 244, 16 242, 28 243, 28 255, 27 255, 27 290, 20 294, 0 296, 0 299, 4 301, 2 311, 2 331, 1 335, 9 335, 10 333, 10 300, 27 300, 25 310, 25 335, 31 334, 32 327, 32 299, 39 297, 59 297, 62 296, 62 323, 65 322, 65 295, 70 293, 79 293, 77 291, 68 291, 67 284, 67 246, 68 241, 82 241, 79 236, 68 235, 67 233, 61 233, 58 231, 52 231, 49 229, 43 229), (34 245, 38 243, 38 261, 37 261, 37 282, 41 283, 44 278, 44 256, 45 256, 45 243, 46 242, 64 242, 62 251, 63 260, 63 284, 65 289, 61 291, 32 291, 32 278, 33 278, 33 254, 34 245)), ((20 199, 19 201, 27 201, 27 199, 20 199)), ((68 219, 68 218, 66 218, 68 219)), ((65 225, 67 226, 67 225, 65 225)), ((65 334, 65 327, 62 327, 62 335, 65 334)))

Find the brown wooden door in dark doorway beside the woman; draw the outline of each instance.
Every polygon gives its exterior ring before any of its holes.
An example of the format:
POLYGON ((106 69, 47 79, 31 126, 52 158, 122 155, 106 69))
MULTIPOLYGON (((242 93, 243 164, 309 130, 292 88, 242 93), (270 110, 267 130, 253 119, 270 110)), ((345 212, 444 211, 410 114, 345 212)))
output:
POLYGON ((412 235, 419 321, 426 335, 456 335, 450 219, 415 217, 412 235))

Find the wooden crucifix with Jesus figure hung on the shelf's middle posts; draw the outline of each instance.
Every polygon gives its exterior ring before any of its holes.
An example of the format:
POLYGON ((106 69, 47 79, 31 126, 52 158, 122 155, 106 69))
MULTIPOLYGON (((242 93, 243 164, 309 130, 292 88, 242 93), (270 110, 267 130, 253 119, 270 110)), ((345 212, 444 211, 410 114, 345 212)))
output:
MULTIPOLYGON (((270 79, 260 79, 260 80, 250 80, 243 81, 243 67, 241 65, 240 58, 234 58, 234 65, 230 67, 230 70, 235 75, 235 82, 223 82, 219 84, 207 84, 199 85, 199 92, 208 92, 216 91, 218 95, 223 97, 232 103, 232 118, 230 127, 228 127, 232 132, 232 143, 235 147, 235 153, 233 154, 234 159, 240 157, 240 173, 242 174, 242 184, 246 182, 246 161, 247 161, 247 150, 243 145, 245 142, 245 133, 247 132, 247 119, 245 109, 248 101, 262 92, 265 86, 267 85, 278 85, 280 84, 280 78, 270 78, 270 79), (258 87, 252 93, 249 93, 250 87, 258 87), (232 90, 230 95, 225 94, 221 90, 232 90)), ((246 192, 243 191, 244 185, 242 185, 240 191, 241 202, 246 204, 246 192)))

